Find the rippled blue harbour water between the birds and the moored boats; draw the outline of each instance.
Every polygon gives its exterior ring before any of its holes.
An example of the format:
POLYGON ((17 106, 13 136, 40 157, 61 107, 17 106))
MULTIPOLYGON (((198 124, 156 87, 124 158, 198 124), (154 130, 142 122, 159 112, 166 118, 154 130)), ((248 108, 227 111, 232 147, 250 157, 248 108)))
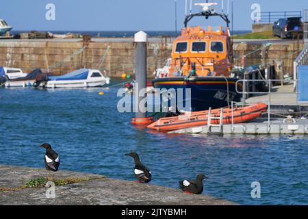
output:
MULTIPOLYGON (((119 81, 114 80, 113 83, 119 81)), ((137 151, 153 184, 177 188, 179 179, 209 176, 205 194, 244 205, 307 205, 308 143, 296 136, 182 136, 131 126, 116 110, 118 87, 88 90, 0 89, 0 164, 44 168, 49 142, 62 170, 134 181, 137 151), (103 90, 105 95, 99 96, 103 90), (261 198, 251 198, 251 183, 261 198)))

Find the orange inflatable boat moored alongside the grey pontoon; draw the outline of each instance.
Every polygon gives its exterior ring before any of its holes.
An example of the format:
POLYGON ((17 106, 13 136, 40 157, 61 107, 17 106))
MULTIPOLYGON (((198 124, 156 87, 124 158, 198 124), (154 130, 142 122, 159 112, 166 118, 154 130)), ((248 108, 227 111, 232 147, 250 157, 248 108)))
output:
MULTIPOLYGON (((233 108, 233 123, 245 123, 261 116, 266 112, 268 105, 265 103, 256 103, 246 107, 233 108)), ((223 108, 222 124, 232 123, 231 108, 223 108)), ((191 127, 198 127, 207 125, 209 111, 192 112, 190 114, 183 114, 175 117, 160 118, 155 123, 148 126, 149 129, 157 131, 175 131, 179 129, 188 129, 191 127)), ((211 110, 211 117, 220 117, 220 109, 211 110)), ((211 124, 219 124, 220 119, 211 119, 211 124)))

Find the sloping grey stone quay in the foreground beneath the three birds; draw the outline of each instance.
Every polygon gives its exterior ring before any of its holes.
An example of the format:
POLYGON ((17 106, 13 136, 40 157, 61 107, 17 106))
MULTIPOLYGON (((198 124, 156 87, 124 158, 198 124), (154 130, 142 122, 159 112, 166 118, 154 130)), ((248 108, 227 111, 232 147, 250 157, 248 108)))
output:
POLYGON ((0 205, 234 205, 210 196, 81 172, 0 165, 0 175, 0 205), (60 183, 55 185, 54 198, 46 194, 50 188, 34 186, 45 178, 60 183))

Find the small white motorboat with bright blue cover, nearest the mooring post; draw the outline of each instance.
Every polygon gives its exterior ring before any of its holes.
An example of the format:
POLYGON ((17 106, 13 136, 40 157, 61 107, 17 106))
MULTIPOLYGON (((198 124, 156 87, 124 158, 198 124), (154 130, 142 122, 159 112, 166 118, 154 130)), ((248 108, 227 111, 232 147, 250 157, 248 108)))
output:
POLYGON ((110 83, 101 71, 95 69, 79 69, 62 76, 49 77, 45 88, 93 88, 110 83))

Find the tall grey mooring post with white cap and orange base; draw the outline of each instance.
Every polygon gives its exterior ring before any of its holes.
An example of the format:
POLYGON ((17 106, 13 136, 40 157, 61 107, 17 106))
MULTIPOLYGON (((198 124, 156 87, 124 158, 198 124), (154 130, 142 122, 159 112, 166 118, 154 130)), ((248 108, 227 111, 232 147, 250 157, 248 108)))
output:
MULTIPOLYGON (((142 99, 146 98, 146 93, 140 96, 140 90, 146 89, 146 43, 147 34, 144 31, 139 31, 135 34, 136 44, 136 118, 131 120, 134 125, 148 125, 153 122, 153 118, 146 117, 146 109, 140 109, 139 104, 142 99)), ((146 107, 143 106, 143 107, 146 107)))

